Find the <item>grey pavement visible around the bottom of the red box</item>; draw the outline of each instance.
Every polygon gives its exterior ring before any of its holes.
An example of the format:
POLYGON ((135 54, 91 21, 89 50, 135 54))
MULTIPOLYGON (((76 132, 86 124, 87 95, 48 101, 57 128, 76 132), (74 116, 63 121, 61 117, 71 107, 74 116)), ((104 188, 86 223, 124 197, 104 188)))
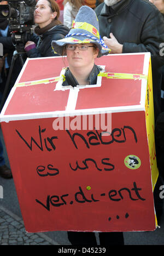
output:
MULTIPOLYGON (((4 145, 1 129, 0 138, 4 145)), ((5 146, 4 157, 9 166, 5 146)), ((3 198, 0 196, 0 245, 71 245, 66 231, 26 232, 13 179, 0 177, 0 186, 3 187, 3 198)), ((155 231, 124 232, 125 245, 164 245, 164 213, 159 225, 155 231)))

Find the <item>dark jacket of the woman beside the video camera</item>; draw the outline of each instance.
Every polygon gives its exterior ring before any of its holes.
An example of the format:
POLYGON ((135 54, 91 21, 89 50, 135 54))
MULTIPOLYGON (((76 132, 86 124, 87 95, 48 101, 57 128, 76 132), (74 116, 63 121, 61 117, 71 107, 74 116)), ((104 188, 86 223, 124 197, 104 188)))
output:
POLYGON ((33 34, 30 41, 36 43, 37 48, 33 48, 27 52, 28 58, 58 56, 57 54, 54 54, 51 42, 52 40, 60 40, 64 38, 68 32, 69 29, 65 25, 56 25, 43 33, 43 35, 37 36, 36 34, 33 34))

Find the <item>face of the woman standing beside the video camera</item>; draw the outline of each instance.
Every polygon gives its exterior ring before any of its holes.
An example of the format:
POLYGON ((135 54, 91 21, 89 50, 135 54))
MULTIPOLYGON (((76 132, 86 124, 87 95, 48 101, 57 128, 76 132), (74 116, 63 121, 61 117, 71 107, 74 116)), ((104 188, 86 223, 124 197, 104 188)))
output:
POLYGON ((46 0, 39 0, 34 10, 34 22, 39 27, 45 27, 55 19, 57 13, 52 12, 49 2, 46 0))

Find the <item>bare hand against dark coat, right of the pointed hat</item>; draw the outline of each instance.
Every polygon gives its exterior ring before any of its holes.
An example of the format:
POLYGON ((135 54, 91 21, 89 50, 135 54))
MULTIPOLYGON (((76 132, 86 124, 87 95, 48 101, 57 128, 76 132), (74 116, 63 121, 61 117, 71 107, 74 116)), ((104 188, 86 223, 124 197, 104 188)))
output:
POLYGON ((110 53, 122 53, 123 45, 118 42, 113 33, 110 33, 110 38, 104 36, 103 41, 111 49, 110 53))

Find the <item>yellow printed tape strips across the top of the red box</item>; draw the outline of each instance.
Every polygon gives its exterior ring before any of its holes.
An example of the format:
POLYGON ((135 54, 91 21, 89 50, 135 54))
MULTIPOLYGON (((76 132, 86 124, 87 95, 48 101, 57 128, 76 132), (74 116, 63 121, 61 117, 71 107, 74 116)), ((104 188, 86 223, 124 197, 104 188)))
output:
MULTIPOLYGON (((115 79, 147 79, 147 75, 139 75, 139 74, 129 74, 129 73, 109 73, 109 72, 99 72, 98 76, 106 77, 106 78, 115 78, 115 79)), ((65 75, 52 77, 49 79, 42 79, 42 80, 36 80, 36 81, 29 81, 29 82, 22 82, 17 83, 14 85, 14 87, 23 87, 23 86, 34 86, 36 84, 42 84, 42 83, 51 83, 51 82, 58 82, 60 80, 63 80, 63 82, 66 80, 65 75)))

